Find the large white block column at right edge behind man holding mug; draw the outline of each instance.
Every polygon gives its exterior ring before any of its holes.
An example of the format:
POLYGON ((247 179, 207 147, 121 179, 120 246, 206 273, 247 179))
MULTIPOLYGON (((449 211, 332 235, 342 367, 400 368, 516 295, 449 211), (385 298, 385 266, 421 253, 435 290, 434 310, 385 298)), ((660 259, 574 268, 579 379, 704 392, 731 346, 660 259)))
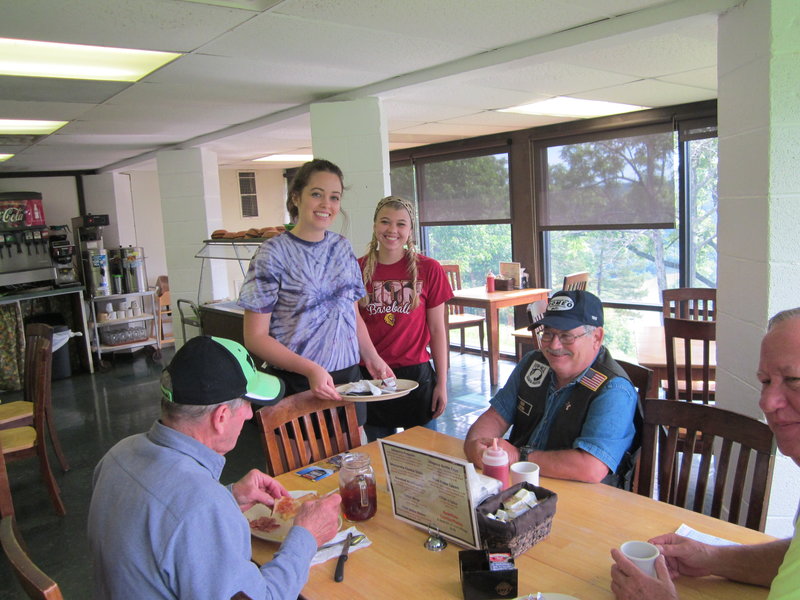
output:
MULTIPOLYGON (((762 418, 759 342, 800 305, 800 3, 745 2, 719 20, 717 402, 762 418)), ((797 466, 776 461, 767 532, 791 535, 797 466)))

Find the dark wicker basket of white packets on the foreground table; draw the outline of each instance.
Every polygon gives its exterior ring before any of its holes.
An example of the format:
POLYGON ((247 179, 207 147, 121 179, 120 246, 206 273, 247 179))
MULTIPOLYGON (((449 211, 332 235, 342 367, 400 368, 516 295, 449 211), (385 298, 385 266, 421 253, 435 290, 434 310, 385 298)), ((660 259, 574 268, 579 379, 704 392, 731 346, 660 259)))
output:
POLYGON ((514 558, 526 552, 550 534, 550 526, 553 524, 553 516, 556 514, 557 500, 558 496, 555 492, 525 482, 512 485, 507 490, 490 496, 475 509, 483 545, 488 548, 508 547, 514 558), (496 512, 505 499, 510 498, 523 487, 535 493, 539 498, 540 502, 536 506, 508 523, 486 516, 496 512))

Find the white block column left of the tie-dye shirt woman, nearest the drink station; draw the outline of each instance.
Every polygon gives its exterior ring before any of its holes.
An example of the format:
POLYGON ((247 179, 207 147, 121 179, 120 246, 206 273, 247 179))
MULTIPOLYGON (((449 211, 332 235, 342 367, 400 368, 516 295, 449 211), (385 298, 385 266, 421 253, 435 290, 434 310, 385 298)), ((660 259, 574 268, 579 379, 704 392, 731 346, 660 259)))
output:
MULTIPOLYGON (((176 348, 179 348, 185 340, 177 320, 177 301, 187 298, 198 302, 203 261, 195 258, 195 254, 212 231, 222 228, 219 168, 216 154, 201 148, 166 150, 160 152, 156 160, 167 274, 170 295, 176 303, 173 331, 176 348)), ((224 262, 207 260, 205 265, 199 301, 225 297, 228 284, 224 262)), ((186 333, 192 337, 196 330, 189 327, 186 333)))

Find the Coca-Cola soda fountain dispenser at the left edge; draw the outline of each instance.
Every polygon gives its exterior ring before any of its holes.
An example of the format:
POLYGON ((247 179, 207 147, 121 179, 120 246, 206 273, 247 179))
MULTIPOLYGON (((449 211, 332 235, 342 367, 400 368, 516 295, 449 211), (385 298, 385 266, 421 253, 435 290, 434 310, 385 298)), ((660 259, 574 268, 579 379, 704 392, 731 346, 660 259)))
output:
POLYGON ((55 271, 48 242, 42 195, 0 192, 0 286, 52 284, 55 271))

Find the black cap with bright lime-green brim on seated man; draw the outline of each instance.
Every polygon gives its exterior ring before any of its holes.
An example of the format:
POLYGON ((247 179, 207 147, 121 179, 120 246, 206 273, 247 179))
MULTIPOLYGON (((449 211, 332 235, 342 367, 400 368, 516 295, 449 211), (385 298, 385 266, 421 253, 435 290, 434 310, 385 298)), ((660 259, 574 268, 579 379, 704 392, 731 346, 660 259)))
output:
POLYGON ((161 375, 161 393, 176 404, 208 406, 244 398, 269 406, 283 391, 283 381, 258 371, 244 346, 211 336, 186 342, 161 375))

